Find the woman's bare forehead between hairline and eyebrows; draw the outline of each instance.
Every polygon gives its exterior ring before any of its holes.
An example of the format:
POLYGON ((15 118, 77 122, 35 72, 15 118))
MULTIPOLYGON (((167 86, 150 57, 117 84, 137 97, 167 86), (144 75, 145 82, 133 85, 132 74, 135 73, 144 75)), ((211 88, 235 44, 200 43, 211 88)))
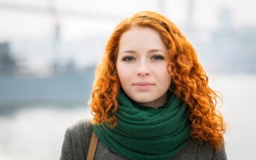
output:
POLYGON ((149 27, 133 27, 119 39, 119 51, 149 48, 166 50, 160 34, 149 27))

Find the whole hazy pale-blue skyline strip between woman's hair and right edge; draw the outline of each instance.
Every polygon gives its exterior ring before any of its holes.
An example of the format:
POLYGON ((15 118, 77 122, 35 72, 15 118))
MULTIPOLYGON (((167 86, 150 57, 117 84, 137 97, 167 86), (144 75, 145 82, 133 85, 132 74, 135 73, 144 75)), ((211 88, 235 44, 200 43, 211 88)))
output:
POLYGON ((255 73, 256 28, 236 28, 232 22, 232 13, 228 9, 220 10, 218 17, 219 28, 215 31, 195 28, 191 20, 184 30, 204 68, 217 73, 255 73))

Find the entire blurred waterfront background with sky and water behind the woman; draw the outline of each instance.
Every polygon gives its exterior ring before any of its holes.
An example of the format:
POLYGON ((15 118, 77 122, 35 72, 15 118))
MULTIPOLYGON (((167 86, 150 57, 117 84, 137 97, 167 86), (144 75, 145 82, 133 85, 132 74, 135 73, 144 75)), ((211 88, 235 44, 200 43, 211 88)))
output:
POLYGON ((60 158, 66 127, 91 118, 87 101, 108 36, 142 10, 171 19, 196 48, 223 97, 228 159, 253 159, 255 7, 253 0, 0 0, 0 159, 60 158))

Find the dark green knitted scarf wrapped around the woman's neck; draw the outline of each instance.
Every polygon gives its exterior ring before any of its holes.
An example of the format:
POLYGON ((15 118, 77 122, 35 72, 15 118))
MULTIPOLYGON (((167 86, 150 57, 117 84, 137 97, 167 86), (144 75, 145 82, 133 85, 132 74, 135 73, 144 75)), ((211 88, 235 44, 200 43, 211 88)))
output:
POLYGON ((93 125, 99 141, 113 153, 127 159, 170 159, 190 139, 191 124, 187 104, 168 92, 160 108, 140 106, 120 89, 117 97, 117 125, 93 125))

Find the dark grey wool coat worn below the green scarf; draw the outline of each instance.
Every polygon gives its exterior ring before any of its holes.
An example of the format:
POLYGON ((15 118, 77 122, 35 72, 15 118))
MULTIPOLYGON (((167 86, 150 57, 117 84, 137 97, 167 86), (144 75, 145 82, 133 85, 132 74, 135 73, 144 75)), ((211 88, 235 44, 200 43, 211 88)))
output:
MULTIPOLYGON (((60 160, 86 160, 87 151, 89 149, 90 138, 93 132, 93 127, 90 120, 81 120, 72 127, 66 129, 65 138, 61 150, 60 160)), ((124 157, 113 153, 99 140, 94 156, 95 160, 125 160, 124 157)), ((225 148, 217 152, 209 144, 199 144, 196 140, 190 138, 187 145, 180 153, 172 156, 172 160, 225 160, 227 159, 225 148)))

